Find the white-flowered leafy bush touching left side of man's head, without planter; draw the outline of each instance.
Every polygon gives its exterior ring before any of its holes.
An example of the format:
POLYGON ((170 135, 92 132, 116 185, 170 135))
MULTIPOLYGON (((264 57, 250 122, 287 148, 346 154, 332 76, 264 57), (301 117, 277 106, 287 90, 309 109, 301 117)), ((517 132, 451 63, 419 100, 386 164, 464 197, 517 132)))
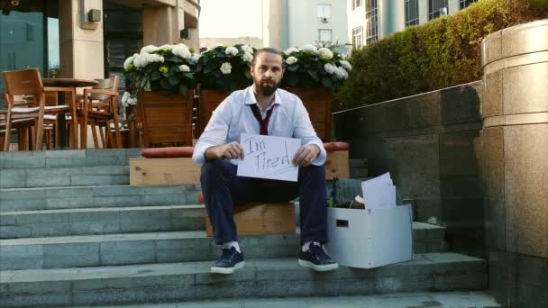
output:
POLYGON ((203 89, 224 89, 227 92, 250 86, 251 60, 255 49, 237 44, 215 44, 204 51, 197 64, 197 77, 203 89))

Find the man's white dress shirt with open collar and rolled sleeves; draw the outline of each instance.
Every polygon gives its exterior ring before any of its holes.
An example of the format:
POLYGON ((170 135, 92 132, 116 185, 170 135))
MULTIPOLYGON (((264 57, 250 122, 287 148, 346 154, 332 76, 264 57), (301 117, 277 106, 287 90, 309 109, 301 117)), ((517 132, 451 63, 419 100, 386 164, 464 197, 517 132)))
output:
MULTIPOLYGON (((200 136, 194 148, 192 159, 198 163, 205 162, 205 150, 227 144, 233 141, 240 142, 242 133, 260 134, 260 123, 251 112, 251 104, 257 104, 253 93, 253 86, 234 91, 213 112, 204 132, 200 136)), ((321 166, 325 162, 324 143, 315 134, 310 117, 305 105, 297 97, 288 91, 278 89, 274 95, 274 101, 269 105, 274 108, 269 120, 269 135, 278 137, 297 138, 301 144, 315 144, 320 148, 320 155, 312 162, 321 166), (276 105, 276 106, 275 106, 276 105)), ((266 111, 260 109, 262 118, 266 111)), ((235 161, 231 161, 236 164, 235 161)))

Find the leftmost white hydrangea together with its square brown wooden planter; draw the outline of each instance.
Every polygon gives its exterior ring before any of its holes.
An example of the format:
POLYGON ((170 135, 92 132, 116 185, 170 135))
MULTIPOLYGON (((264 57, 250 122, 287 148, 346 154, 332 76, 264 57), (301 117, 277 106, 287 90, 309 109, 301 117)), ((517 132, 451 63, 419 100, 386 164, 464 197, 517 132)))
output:
POLYGON ((136 109, 145 147, 192 144, 192 102, 198 55, 184 44, 145 46, 125 60, 122 104, 136 109), (134 108, 137 106, 137 108, 134 108))

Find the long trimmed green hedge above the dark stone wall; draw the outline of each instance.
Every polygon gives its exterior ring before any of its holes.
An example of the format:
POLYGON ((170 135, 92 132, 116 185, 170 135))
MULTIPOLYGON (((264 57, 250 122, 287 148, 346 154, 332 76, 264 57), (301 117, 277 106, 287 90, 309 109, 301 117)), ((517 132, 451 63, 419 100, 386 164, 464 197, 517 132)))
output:
POLYGON ((479 0, 457 14, 353 50, 352 73, 333 107, 379 103, 479 80, 483 38, 543 18, 548 18, 548 0, 479 0))

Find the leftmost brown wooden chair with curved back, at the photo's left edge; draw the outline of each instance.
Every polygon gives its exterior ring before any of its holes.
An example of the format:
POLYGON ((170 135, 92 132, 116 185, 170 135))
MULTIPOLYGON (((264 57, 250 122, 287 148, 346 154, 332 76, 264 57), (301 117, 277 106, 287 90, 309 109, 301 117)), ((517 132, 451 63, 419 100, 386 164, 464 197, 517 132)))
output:
POLYGON ((19 137, 23 141, 28 140, 26 137, 28 137, 28 131, 31 130, 32 126, 35 128, 32 134, 34 137, 32 139, 32 149, 41 149, 46 99, 40 72, 38 69, 32 68, 3 72, 2 74, 5 80, 5 101, 7 102, 3 142, 4 150, 9 150, 11 134, 14 128, 20 130, 19 137), (32 95, 34 106, 15 106, 14 97, 18 95, 32 95), (25 137, 23 139, 21 138, 22 132, 25 137))

